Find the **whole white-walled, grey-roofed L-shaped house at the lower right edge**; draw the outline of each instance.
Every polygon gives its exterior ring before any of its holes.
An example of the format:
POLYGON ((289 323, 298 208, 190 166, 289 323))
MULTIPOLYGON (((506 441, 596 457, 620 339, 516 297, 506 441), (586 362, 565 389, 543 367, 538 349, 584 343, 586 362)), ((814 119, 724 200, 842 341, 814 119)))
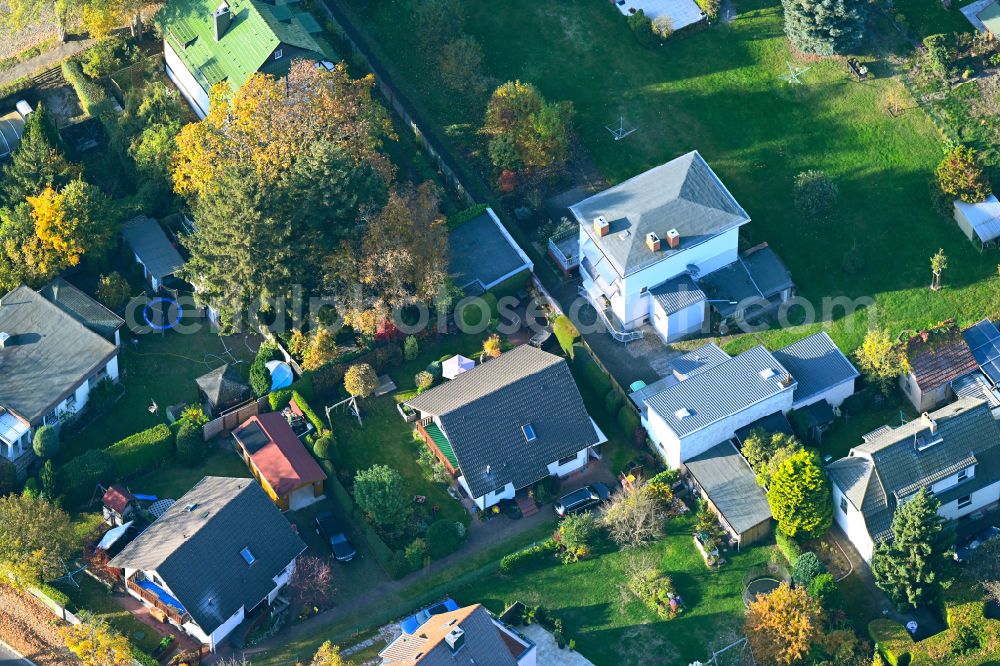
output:
POLYGON ((898 428, 882 427, 826 467, 834 520, 866 561, 892 538, 896 507, 927 488, 957 520, 1000 500, 1000 423, 963 398, 898 428))

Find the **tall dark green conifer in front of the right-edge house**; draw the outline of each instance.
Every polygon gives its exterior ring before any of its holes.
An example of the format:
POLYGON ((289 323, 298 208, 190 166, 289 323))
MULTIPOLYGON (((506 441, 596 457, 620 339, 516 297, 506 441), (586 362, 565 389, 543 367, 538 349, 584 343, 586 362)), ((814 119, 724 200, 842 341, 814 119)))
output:
POLYGON ((916 607, 940 592, 947 563, 941 503, 922 488, 892 517, 892 540, 876 546, 872 573, 879 588, 901 606, 916 607))

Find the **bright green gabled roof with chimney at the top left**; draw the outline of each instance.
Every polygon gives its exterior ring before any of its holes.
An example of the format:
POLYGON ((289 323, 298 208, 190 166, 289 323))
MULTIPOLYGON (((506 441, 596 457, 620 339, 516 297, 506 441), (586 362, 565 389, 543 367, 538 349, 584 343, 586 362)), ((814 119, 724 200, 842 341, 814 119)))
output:
POLYGON ((156 17, 171 48, 206 90, 224 80, 238 90, 281 44, 322 58, 320 45, 293 20, 287 0, 230 0, 232 23, 216 41, 212 13, 220 1, 168 0, 156 17))

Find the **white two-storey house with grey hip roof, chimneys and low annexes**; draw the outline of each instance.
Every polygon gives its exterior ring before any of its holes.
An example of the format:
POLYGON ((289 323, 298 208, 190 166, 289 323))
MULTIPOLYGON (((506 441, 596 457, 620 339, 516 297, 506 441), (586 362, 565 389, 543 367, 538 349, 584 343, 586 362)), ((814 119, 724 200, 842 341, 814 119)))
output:
POLYGON ((791 297, 787 268, 765 245, 741 254, 750 221, 697 151, 570 206, 579 222, 581 294, 613 333, 649 322, 670 342, 791 297))

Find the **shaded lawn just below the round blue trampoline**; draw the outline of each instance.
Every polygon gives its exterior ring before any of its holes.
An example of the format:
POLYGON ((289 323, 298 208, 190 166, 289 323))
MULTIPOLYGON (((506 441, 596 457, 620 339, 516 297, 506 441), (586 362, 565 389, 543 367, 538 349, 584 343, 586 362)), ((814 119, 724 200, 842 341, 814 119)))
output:
MULTIPOLYGON (((133 334, 122 329, 122 349, 118 355, 121 399, 90 422, 80 433, 64 441, 60 460, 68 460, 88 449, 106 448, 131 434, 165 421, 164 410, 180 402, 197 403, 195 378, 233 357, 248 362, 253 354, 242 337, 220 338, 207 324, 194 333, 150 333, 137 335, 139 343, 130 344, 133 334), (230 356, 227 349, 232 353, 230 356), (149 411, 155 401, 158 414, 149 411)), ((249 373, 249 365, 246 364, 249 373)))

